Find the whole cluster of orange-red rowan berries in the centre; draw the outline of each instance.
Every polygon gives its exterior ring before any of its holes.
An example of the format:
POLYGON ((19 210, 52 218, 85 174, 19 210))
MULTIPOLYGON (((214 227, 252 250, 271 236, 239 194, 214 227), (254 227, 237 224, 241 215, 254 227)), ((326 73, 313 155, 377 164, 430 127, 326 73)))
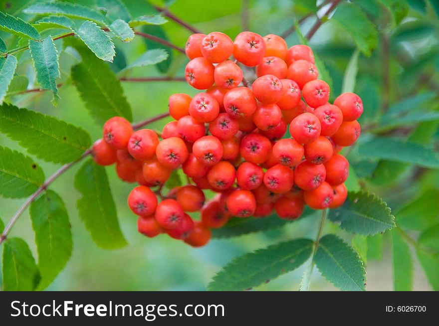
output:
POLYGON ((310 47, 288 49, 274 34, 245 31, 232 41, 213 32, 191 35, 186 54, 186 80, 206 91, 169 98, 175 121, 163 128, 162 140, 114 117, 93 147, 96 163, 116 163, 122 180, 139 184, 128 205, 139 215, 141 233, 167 233, 203 246, 210 229, 232 217, 264 217, 274 210, 280 218, 297 219, 305 204, 343 204, 349 163, 339 152, 360 136, 363 104, 353 93, 328 103, 329 86, 317 79, 310 47), (251 67, 257 78, 250 84, 244 75, 251 67), (189 184, 166 195, 151 190, 161 189, 180 167, 189 184), (206 190, 216 192, 207 202, 206 190), (188 214, 196 211, 199 221, 188 214))

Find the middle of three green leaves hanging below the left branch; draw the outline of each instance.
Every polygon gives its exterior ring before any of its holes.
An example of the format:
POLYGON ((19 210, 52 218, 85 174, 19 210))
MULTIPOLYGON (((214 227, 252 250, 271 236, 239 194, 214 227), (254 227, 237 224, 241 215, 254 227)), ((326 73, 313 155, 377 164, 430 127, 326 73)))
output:
POLYGON ((72 233, 64 203, 51 190, 44 192, 29 208, 35 243, 38 251, 38 269, 44 290, 64 268, 72 253, 72 233))

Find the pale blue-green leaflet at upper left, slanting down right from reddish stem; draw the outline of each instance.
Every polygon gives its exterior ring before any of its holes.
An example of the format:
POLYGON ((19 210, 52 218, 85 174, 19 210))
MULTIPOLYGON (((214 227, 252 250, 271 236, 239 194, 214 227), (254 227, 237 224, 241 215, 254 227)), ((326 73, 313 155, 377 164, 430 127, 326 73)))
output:
POLYGON ((113 62, 116 54, 113 41, 95 22, 84 21, 75 32, 98 58, 113 62))

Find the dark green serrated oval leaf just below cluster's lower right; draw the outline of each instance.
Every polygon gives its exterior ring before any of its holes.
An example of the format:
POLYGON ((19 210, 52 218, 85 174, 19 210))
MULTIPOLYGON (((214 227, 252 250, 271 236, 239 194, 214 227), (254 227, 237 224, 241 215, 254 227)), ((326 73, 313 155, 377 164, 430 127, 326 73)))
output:
POLYGON ((345 203, 329 211, 328 218, 340 222, 348 232, 371 235, 384 232, 395 226, 391 209, 378 196, 370 192, 348 192, 345 203))

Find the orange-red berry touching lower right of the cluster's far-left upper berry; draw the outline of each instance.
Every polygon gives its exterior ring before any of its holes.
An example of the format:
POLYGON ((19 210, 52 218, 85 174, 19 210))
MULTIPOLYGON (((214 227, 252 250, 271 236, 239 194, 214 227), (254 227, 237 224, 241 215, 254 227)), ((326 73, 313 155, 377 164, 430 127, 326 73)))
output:
POLYGON ((128 153, 139 161, 149 160, 156 154, 159 137, 151 129, 135 131, 128 141, 128 153))

